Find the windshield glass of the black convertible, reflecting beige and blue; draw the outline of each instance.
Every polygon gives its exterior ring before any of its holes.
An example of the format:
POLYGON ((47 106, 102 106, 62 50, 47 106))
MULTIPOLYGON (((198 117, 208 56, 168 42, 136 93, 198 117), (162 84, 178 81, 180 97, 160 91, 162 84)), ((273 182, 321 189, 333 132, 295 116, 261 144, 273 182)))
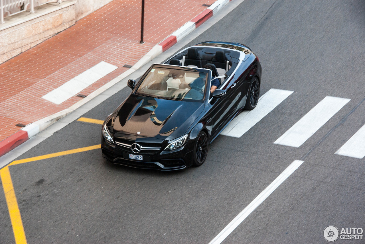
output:
POLYGON ((137 93, 162 99, 201 102, 206 82, 205 72, 152 67, 137 93))

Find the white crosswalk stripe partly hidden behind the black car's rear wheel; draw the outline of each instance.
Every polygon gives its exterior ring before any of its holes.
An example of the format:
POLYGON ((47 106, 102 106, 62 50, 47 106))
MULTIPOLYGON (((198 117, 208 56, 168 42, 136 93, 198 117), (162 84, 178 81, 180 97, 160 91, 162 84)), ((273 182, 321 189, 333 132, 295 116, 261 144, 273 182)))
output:
POLYGON ((292 93, 293 91, 270 89, 258 99, 254 110, 243 111, 220 134, 241 137, 292 93))

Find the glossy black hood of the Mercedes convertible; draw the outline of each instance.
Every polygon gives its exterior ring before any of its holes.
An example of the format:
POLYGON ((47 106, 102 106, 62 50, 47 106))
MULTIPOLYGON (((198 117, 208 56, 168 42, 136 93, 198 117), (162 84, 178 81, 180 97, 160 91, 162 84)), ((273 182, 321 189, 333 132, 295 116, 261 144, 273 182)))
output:
POLYGON ((204 109, 185 102, 131 94, 112 116, 114 137, 154 137, 171 140, 184 135, 204 109))

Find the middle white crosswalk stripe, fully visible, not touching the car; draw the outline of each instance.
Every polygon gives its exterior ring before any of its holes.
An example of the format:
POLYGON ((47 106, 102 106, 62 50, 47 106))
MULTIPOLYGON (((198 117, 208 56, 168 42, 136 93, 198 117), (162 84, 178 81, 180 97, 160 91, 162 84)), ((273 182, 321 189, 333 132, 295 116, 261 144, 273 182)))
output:
POLYGON ((299 147, 335 115, 350 99, 325 97, 274 143, 299 147))

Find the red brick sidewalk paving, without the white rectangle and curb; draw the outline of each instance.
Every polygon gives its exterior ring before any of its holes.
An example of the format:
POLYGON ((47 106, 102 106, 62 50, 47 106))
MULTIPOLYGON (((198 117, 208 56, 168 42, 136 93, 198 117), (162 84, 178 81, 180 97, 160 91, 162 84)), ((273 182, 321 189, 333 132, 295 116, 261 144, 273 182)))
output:
POLYGON ((153 46, 192 20, 215 0, 149 0, 144 44, 141 1, 114 0, 75 25, 0 65, 0 141, 82 98, 56 105, 41 97, 101 61, 118 66, 81 94, 88 95, 134 65, 153 46))

